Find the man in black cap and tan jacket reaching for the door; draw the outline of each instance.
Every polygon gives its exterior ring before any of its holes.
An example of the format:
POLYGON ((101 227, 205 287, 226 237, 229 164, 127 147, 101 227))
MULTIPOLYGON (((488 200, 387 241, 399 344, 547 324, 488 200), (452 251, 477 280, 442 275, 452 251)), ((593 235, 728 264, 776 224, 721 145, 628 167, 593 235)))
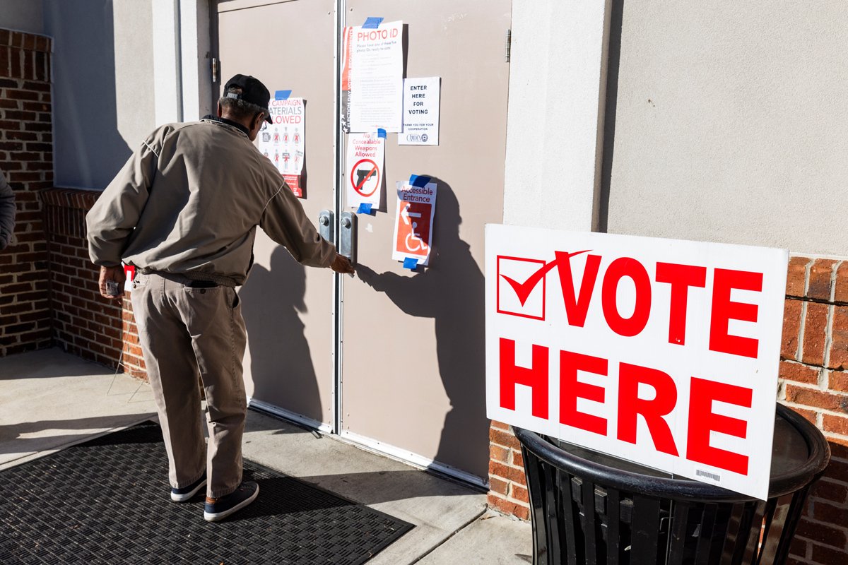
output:
POLYGON ((304 265, 354 272, 252 143, 271 121, 269 99, 259 80, 235 75, 217 117, 153 131, 86 216, 101 295, 120 296, 121 259, 137 267, 132 307, 165 435, 171 500, 187 501, 206 485, 210 522, 259 493, 242 480, 246 334, 235 291, 253 263, 256 226, 304 265))

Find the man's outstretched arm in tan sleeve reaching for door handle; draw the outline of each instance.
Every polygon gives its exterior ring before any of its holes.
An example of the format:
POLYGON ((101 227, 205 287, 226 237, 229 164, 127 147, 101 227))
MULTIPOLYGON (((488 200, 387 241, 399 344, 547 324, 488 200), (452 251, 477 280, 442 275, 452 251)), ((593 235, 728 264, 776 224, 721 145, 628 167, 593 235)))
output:
POLYGON ((336 246, 326 241, 304 213, 288 185, 283 182, 265 205, 259 221, 272 240, 285 246, 298 263, 308 267, 329 267, 342 274, 353 274, 354 266, 348 258, 336 251, 336 246))

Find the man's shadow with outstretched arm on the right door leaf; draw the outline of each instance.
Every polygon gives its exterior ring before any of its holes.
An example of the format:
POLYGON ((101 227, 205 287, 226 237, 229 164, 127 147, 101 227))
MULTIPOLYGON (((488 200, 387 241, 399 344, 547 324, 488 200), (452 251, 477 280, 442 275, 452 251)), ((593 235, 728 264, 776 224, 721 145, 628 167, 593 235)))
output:
POLYGON ((377 274, 365 265, 357 274, 385 292, 410 316, 434 319, 436 354, 450 399, 435 457, 485 477, 488 474, 483 273, 460 239, 460 204, 451 187, 436 177, 438 203, 431 258, 433 267, 404 277, 377 274))

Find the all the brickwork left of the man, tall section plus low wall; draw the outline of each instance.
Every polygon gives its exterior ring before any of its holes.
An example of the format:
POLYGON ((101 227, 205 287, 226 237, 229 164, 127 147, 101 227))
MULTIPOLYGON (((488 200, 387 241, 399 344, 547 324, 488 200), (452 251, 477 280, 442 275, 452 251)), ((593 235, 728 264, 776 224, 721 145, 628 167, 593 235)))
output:
POLYGON ((0 252, 0 357, 53 345, 144 375, 129 300, 97 292, 85 214, 97 191, 53 189, 52 40, 0 30, 0 170, 14 190, 13 244, 0 252), (41 197, 40 197, 41 196, 41 197))

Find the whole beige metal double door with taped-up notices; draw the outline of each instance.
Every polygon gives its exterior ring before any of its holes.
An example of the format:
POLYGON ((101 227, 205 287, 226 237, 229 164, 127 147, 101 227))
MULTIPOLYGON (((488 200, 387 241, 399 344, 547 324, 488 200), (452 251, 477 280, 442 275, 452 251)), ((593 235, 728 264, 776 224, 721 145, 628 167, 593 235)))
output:
MULTIPOLYGON (((220 76, 305 99, 304 198, 339 233, 345 202, 341 36, 404 22, 407 77, 441 77, 437 147, 388 134, 386 206, 360 214, 354 277, 304 268, 264 234, 243 286, 245 379, 258 407, 471 482, 488 474, 483 226, 503 212, 510 0, 221 0, 220 76), (427 268, 392 259, 395 182, 437 183, 427 268)), ((222 84, 222 83, 221 83, 222 84)), ((220 85, 217 85, 220 87, 220 85)))

